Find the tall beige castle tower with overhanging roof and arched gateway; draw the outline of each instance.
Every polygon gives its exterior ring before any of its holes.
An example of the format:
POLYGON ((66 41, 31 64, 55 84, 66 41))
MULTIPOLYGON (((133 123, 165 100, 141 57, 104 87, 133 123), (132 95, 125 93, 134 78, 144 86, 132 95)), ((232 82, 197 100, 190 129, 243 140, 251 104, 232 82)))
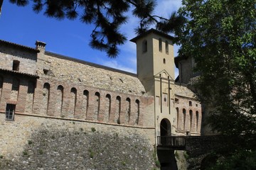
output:
POLYGON ((171 135, 174 123, 174 45, 173 37, 148 30, 131 40, 137 45, 137 75, 154 96, 156 136, 171 135))

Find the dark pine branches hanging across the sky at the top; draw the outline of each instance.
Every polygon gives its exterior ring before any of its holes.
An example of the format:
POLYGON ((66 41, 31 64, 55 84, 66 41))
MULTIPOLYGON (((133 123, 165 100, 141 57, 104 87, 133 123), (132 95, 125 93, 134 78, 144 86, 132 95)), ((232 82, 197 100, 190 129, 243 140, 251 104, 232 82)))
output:
MULTIPOLYGON (((29 0, 9 0, 12 4, 26 6, 29 0)), ((32 0, 31 0, 32 1, 32 0)), ((109 57, 118 55, 118 45, 124 44, 127 38, 121 33, 120 26, 127 23, 128 13, 140 19, 136 32, 141 34, 152 24, 164 32, 174 30, 183 18, 172 13, 170 18, 154 16, 156 6, 154 0, 33 0, 33 11, 44 11, 48 17, 74 20, 79 18, 82 23, 92 24, 95 28, 91 33, 90 46, 107 52, 109 57)))

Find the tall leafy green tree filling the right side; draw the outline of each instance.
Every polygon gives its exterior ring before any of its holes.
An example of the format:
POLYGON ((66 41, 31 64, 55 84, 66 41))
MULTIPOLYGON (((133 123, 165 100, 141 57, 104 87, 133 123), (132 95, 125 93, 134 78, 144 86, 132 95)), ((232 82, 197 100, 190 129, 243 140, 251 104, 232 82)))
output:
POLYGON ((194 85, 212 108, 208 123, 228 136, 219 157, 255 153, 255 6, 255 0, 183 0, 179 10, 187 18, 177 32, 179 55, 195 59, 194 72, 201 76, 194 85))

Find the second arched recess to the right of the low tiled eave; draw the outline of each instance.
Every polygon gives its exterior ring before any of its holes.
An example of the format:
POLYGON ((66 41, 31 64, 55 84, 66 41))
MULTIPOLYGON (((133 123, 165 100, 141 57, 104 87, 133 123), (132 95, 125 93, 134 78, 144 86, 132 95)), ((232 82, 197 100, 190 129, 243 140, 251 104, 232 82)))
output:
POLYGON ((55 103, 55 116, 63 117, 63 91, 64 87, 59 85, 57 87, 57 96, 56 96, 56 103, 55 103))

